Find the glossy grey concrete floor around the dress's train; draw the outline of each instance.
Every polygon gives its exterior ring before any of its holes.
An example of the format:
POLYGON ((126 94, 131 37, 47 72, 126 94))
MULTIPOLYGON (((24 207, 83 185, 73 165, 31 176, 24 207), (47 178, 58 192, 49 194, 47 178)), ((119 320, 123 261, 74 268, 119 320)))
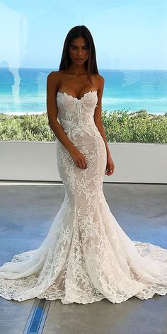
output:
MULTIPOLYGON (((129 238, 167 248, 167 185, 103 183, 103 191, 129 238)), ((40 246, 63 199, 62 183, 1 182, 0 265, 16 253, 40 246)), ((122 304, 107 299, 86 305, 48 302, 42 329, 33 331, 25 325, 35 301, 0 298, 0 333, 167 334, 167 296, 156 294, 146 301, 132 297, 122 304)))

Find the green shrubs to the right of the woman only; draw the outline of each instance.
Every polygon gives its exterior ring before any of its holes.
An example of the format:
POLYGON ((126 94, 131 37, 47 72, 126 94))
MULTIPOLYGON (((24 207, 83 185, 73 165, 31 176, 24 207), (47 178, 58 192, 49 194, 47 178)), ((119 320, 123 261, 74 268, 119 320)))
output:
POLYGON ((105 135, 108 142, 167 144, 167 114, 154 115, 139 110, 107 110, 102 113, 105 135))

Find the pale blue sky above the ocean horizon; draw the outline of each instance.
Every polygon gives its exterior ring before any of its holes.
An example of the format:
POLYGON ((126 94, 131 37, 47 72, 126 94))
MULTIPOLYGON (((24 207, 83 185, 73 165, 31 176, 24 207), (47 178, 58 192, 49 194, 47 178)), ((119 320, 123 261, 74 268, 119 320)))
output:
POLYGON ((86 25, 98 69, 167 69, 167 0, 0 1, 0 62, 57 69, 68 31, 86 25))

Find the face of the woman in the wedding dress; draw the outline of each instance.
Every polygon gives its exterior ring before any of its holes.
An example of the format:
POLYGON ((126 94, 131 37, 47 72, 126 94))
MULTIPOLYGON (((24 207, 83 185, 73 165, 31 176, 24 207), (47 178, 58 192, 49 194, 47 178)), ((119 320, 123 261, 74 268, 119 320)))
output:
POLYGON ((69 45, 69 57, 74 64, 83 65, 88 59, 89 48, 83 37, 74 38, 69 45), (81 59, 81 60, 79 60, 81 59))

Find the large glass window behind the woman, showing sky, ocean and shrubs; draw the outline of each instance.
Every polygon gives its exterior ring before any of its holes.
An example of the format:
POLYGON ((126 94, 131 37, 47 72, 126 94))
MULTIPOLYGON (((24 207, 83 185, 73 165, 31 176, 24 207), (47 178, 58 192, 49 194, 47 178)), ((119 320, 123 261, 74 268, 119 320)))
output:
POLYGON ((105 78, 108 142, 166 143, 166 14, 166 0, 1 1, 0 140, 55 140, 47 75, 59 69, 68 31, 84 24, 105 78))

